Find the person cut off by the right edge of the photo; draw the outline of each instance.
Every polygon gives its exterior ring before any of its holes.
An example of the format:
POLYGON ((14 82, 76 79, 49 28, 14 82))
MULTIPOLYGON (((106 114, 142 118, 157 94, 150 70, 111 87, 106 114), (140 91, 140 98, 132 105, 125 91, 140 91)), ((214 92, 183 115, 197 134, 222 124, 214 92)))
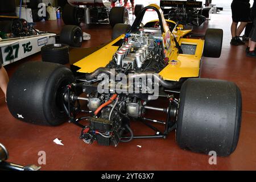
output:
POLYGON ((253 7, 251 8, 251 18, 253 18, 253 28, 249 35, 249 51, 246 52, 246 56, 255 57, 255 46, 256 46, 256 1, 254 0, 253 7))

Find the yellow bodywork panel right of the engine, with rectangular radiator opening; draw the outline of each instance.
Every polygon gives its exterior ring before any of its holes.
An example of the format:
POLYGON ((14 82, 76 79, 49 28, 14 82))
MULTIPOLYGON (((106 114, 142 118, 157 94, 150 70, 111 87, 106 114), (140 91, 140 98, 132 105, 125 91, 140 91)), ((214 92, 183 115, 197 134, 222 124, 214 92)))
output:
POLYGON ((159 73, 164 80, 179 81, 183 77, 198 77, 204 40, 180 39, 179 44, 196 45, 195 55, 178 54, 175 49, 170 57, 169 64, 159 73))

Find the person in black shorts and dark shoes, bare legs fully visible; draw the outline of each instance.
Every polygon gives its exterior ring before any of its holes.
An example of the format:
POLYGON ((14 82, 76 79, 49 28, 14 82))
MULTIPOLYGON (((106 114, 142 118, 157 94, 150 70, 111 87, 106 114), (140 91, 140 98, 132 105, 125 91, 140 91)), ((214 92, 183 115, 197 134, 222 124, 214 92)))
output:
POLYGON ((245 43, 239 37, 249 21, 250 0, 233 0, 231 10, 233 22, 231 25, 232 39, 230 44, 233 46, 244 45, 245 43), (238 26, 239 22, 240 26, 238 26))

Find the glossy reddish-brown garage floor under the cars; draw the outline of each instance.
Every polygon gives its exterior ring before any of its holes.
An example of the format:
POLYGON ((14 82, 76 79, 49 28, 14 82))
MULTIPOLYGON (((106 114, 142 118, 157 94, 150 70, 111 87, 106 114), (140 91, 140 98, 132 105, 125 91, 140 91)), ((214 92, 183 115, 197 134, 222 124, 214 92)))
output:
MULTIPOLYGON (((175 142, 175 133, 167 139, 134 139, 120 143, 118 147, 85 144, 79 139, 81 129, 64 123, 57 127, 36 126, 18 121, 7 109, 3 93, 0 93, 0 142, 10 152, 10 162, 38 164, 38 152, 46 151, 46 165, 42 170, 255 170, 256 169, 256 59, 245 56, 246 46, 230 46, 230 15, 213 15, 195 32, 204 33, 207 27, 222 28, 224 42, 220 59, 203 57, 201 77, 236 82, 242 91, 242 126, 236 151, 226 158, 217 158, 217 165, 209 165, 208 155, 181 150, 175 142), (64 146, 52 142, 59 138, 64 146), (139 148, 137 145, 141 145, 139 148)), ((63 22, 40 22, 36 28, 59 33, 63 22)), ((97 46, 111 39, 109 25, 82 26, 92 39, 83 47, 97 46)), ((9 76, 26 61, 39 61, 40 53, 6 66, 9 76)), ((164 119, 162 113, 152 117, 164 119)), ((133 122, 135 134, 148 133, 140 122, 133 122)))

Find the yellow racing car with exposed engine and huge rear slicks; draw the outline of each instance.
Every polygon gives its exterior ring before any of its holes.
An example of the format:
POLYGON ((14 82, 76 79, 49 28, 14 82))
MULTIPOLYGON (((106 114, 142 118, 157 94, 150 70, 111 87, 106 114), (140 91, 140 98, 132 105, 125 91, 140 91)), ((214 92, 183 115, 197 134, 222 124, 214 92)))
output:
POLYGON ((232 154, 241 125, 240 89, 233 82, 200 78, 202 56, 221 55, 222 30, 193 35, 150 5, 132 26, 116 24, 112 36, 97 48, 72 49, 71 69, 38 61, 19 67, 7 88, 10 113, 38 125, 75 123, 88 144, 165 139, 174 131, 185 150, 232 154), (150 9, 158 20, 142 24, 150 9), (154 135, 137 135, 132 121, 154 135))

